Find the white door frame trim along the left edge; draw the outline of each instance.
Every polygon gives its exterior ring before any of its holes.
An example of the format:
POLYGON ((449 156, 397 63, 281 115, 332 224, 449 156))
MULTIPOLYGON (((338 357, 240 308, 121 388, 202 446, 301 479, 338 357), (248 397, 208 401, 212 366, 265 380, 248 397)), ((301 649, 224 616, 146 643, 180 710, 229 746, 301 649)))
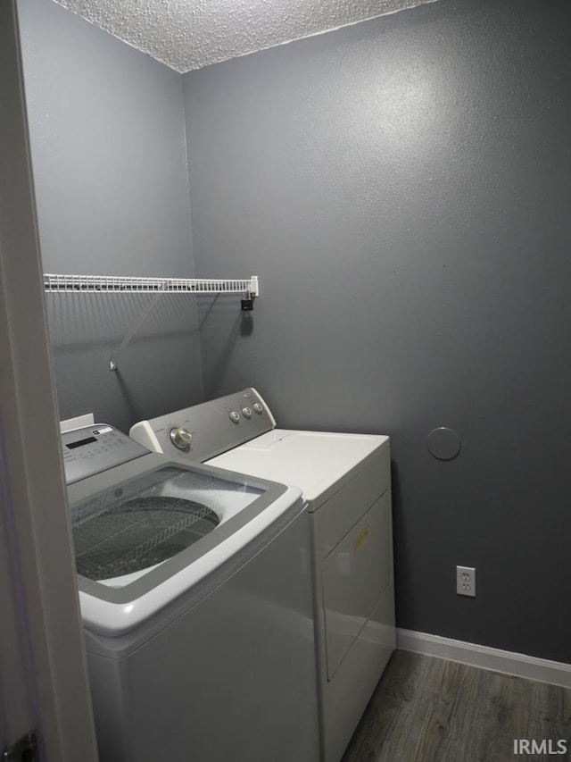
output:
POLYGON ((96 762, 16 0, 0 2, 0 92, 0 753, 35 729, 43 760, 96 762))

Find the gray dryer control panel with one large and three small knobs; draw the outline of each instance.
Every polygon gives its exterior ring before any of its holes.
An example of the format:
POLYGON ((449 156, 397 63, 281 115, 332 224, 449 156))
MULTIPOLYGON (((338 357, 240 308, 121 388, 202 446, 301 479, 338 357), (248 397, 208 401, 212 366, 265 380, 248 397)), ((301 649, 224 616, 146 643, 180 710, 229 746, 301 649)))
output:
POLYGON ((156 452, 203 463, 275 428, 269 407, 256 389, 211 399, 136 423, 129 436, 156 452))

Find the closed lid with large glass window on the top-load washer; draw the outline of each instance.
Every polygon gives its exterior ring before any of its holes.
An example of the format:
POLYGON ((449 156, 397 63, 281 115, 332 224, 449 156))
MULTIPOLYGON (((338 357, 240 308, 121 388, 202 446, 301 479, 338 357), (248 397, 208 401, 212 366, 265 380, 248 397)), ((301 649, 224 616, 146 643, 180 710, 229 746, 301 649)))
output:
POLYGON ((68 487, 84 624, 118 635, 301 510, 301 490, 149 453, 68 487))

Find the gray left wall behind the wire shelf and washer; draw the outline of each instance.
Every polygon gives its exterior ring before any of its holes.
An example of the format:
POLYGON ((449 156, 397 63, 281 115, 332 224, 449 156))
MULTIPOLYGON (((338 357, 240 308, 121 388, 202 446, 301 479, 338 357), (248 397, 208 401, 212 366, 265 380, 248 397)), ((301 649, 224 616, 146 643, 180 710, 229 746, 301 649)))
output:
MULTIPOLYGON (((192 277, 178 73, 52 0, 19 3, 45 272, 192 277)), ((169 296, 47 295, 62 418, 128 430, 203 398, 197 311, 169 296)))

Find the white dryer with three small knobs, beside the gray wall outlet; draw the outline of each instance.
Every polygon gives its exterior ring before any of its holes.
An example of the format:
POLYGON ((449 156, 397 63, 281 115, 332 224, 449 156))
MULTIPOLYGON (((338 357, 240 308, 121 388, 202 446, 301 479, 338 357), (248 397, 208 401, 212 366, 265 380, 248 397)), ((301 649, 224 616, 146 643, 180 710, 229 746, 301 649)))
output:
POLYGON ((323 762, 338 762, 395 648, 388 437, 276 428, 255 389, 137 423, 158 452, 295 484, 307 501, 323 762))

